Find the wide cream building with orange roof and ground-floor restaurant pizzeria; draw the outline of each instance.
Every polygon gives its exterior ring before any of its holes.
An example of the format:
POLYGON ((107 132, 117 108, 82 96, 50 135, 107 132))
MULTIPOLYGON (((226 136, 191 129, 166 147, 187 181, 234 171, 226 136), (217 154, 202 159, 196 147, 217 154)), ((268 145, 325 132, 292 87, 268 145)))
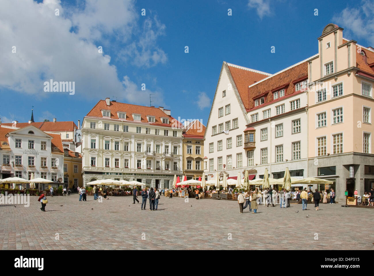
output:
POLYGON ((99 101, 82 123, 83 183, 114 178, 171 187, 183 172, 182 129, 163 107, 99 101))

